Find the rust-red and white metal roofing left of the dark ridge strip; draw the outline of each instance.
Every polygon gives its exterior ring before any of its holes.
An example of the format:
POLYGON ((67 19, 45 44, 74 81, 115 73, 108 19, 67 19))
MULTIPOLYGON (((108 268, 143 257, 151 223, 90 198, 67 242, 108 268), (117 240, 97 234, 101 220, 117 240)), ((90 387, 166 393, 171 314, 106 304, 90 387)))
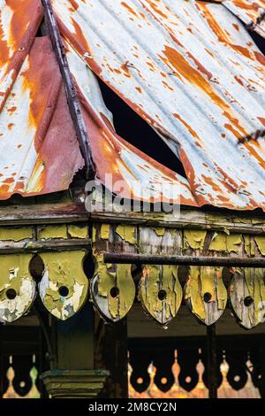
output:
POLYGON ((0 2, 0 199, 67 189, 83 166, 39 0, 0 2))

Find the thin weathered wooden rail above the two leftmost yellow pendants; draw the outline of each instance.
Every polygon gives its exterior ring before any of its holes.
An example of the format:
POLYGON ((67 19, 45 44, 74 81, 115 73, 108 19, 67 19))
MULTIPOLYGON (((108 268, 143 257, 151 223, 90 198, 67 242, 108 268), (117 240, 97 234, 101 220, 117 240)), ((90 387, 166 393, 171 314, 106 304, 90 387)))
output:
POLYGON ((89 239, 72 238, 69 240, 49 240, 30 242, 0 241, 0 254, 41 253, 50 251, 88 250, 91 246, 89 239))

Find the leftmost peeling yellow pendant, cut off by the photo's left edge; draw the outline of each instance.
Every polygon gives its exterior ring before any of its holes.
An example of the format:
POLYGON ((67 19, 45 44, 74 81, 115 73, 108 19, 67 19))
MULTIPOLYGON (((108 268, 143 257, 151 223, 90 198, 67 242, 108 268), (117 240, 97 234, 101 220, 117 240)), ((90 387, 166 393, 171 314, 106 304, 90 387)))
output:
POLYGON ((27 254, 0 256, 1 322, 18 320, 34 302, 35 282, 28 272, 31 258, 32 256, 27 254))

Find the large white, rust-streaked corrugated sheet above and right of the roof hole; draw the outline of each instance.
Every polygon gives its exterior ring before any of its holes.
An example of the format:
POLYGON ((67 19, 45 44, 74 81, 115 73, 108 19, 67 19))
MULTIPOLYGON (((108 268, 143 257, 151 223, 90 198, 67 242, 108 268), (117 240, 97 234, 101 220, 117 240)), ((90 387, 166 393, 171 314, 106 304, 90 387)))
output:
POLYGON ((239 19, 199 1, 52 4, 64 39, 182 160, 198 204, 265 209, 264 57, 239 19))

